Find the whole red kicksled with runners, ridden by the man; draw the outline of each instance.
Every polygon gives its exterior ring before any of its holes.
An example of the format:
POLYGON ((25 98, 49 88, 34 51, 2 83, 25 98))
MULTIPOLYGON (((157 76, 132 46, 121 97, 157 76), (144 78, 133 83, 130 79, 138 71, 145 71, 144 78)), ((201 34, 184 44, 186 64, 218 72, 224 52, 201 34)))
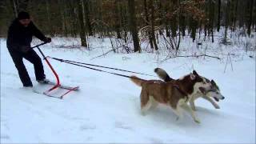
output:
POLYGON ((58 74, 54 70, 53 66, 51 66, 45 54, 43 54, 42 50, 39 48, 39 46, 42 46, 44 44, 46 44, 46 42, 39 44, 37 46, 33 46, 31 48, 38 48, 40 54, 42 54, 43 60, 46 61, 47 65, 50 67, 50 70, 53 72, 54 77, 56 78, 56 82, 49 81, 49 82, 38 83, 38 86, 35 86, 33 91, 38 94, 44 94, 48 97, 62 99, 64 98, 64 96, 66 96, 66 94, 69 94, 71 91, 78 90, 79 86, 62 86, 58 78, 58 74))

